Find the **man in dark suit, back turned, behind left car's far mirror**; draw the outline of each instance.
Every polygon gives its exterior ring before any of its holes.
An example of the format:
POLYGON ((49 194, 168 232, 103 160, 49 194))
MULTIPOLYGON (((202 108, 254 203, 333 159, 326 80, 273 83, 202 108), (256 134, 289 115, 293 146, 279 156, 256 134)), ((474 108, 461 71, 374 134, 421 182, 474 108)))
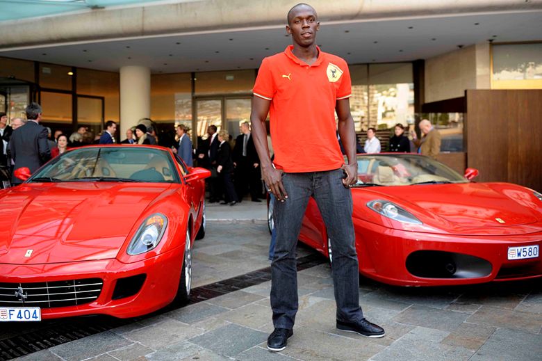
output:
MULTIPOLYGON (((47 144, 47 129, 40 125, 42 107, 38 103, 31 103, 25 111, 28 121, 24 127, 13 131, 10 139, 10 152, 15 161, 15 170, 27 167, 31 173, 34 173, 51 159, 51 150, 47 144)), ((12 177, 12 183, 20 184, 22 180, 12 177)))

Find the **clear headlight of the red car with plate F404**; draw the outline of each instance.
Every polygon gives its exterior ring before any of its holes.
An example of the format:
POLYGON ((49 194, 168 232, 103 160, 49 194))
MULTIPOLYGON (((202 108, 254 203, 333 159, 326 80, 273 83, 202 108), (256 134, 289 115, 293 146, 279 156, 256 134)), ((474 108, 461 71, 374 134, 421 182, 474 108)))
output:
POLYGON ((167 227, 167 218, 160 213, 149 216, 140 225, 138 232, 133 236, 126 253, 131 256, 149 252, 158 246, 167 227))

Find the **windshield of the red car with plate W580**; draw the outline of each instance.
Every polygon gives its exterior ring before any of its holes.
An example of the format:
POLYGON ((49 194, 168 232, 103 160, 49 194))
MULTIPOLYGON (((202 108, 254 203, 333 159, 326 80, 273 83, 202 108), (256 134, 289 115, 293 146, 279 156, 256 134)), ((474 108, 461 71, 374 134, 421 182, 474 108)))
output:
POLYGON ((417 154, 358 155, 356 186, 467 183, 455 170, 417 154))

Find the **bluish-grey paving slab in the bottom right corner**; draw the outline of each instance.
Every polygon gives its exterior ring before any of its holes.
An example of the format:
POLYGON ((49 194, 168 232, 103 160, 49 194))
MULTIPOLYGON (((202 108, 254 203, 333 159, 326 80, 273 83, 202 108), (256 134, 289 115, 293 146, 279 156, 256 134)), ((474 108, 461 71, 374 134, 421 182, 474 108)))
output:
POLYGON ((542 335, 499 328, 470 361, 542 360, 542 335))

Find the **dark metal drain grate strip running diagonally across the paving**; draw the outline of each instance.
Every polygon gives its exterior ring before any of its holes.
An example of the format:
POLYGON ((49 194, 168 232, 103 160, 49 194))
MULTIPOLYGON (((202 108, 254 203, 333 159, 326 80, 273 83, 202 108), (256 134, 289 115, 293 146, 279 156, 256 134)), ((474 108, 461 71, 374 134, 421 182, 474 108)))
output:
MULTIPOLYGON (((325 257, 316 253, 299 257, 297 259, 297 271, 318 266, 318 264, 325 262, 327 262, 325 257)), ((271 267, 266 267, 227 280, 206 284, 192 289, 189 304, 210 300, 269 280, 271 280, 271 267)), ((135 319, 86 316, 72 319, 46 320, 31 329, 28 329, 29 323, 3 323, 3 328, 0 330, 0 361, 12 360, 13 358, 95 335, 170 310, 172 310, 171 307, 165 307, 163 310, 135 319)))

